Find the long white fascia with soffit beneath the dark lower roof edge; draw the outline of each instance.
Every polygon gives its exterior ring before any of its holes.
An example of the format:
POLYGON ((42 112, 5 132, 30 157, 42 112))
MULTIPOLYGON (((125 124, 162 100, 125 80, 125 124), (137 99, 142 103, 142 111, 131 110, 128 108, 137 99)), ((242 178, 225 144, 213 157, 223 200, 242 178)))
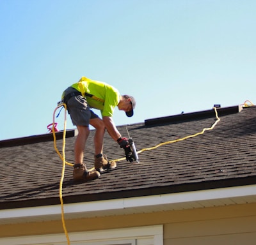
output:
MULTIPOLYGON (((159 210, 189 209, 256 202, 256 184, 202 191, 188 191, 147 197, 120 198, 95 202, 65 204, 65 218, 108 216, 159 210)), ((61 206, 26 207, 0 210, 0 224, 6 219, 26 218, 26 221, 60 219, 61 206)), ((11 221, 11 220, 10 220, 11 221)))

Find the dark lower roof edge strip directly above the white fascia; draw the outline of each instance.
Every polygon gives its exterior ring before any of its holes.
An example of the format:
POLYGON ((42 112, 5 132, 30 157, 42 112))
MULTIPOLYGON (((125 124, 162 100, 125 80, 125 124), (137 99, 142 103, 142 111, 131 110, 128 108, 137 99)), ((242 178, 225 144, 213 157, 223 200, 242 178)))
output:
MULTIPOLYGON (((139 188, 139 189, 128 189, 126 191, 114 191, 106 193, 97 193, 97 194, 86 194, 83 195, 65 195, 63 193, 63 202, 64 204, 76 204, 79 202, 97 202, 104 200, 115 200, 119 198, 137 198, 137 197, 149 197, 152 195, 166 195, 173 193, 186 193, 189 191, 207 191, 211 189, 222 189, 222 188, 236 188, 237 186, 245 187, 250 185, 255 185, 256 179, 255 176, 244 177, 244 178, 233 178, 233 179, 221 179, 218 181, 202 181, 202 182, 193 182, 190 184, 176 184, 173 186, 157 186, 148 188, 139 188)), ((51 198, 40 198, 40 199, 31 199, 31 200, 20 200, 13 201, 8 200, 7 202, 0 202, 0 211, 6 209, 17 209, 26 208, 26 207, 38 207, 38 205, 56 205, 60 203, 59 197, 51 198)))

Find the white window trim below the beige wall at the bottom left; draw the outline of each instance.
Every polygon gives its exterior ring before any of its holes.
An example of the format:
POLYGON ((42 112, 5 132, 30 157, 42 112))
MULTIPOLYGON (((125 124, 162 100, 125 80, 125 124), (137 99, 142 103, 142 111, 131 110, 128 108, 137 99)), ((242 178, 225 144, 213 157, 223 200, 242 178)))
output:
MULTIPOLYGON (((119 242, 131 242, 134 239, 140 241, 147 238, 152 245, 163 245, 163 225, 141 226, 132 228, 120 228, 113 230, 97 230, 92 232, 72 232, 69 235, 72 244, 115 244, 119 242), (111 243, 110 243, 111 241, 111 243), (113 242, 112 242, 113 241, 113 242), (81 243, 82 242, 82 243, 81 243)), ((31 244, 67 244, 65 234, 31 235, 27 237, 0 238, 1 244, 8 245, 31 245, 31 244)))

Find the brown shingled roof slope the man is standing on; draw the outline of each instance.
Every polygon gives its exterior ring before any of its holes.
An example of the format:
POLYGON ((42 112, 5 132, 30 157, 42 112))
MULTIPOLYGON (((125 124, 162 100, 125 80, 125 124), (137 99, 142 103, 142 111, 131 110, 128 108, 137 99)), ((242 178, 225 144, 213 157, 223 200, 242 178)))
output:
MULTIPOLYGON (((193 135, 216 121, 214 110, 195 117, 161 119, 138 123, 127 129, 138 150, 193 135), (157 123, 159 122, 159 123, 157 123)), ((127 137, 126 126, 117 127, 127 137)), ((86 144, 84 162, 93 167, 93 135, 86 144)), ((47 135, 49 137, 49 135, 47 135)), ((74 159, 76 137, 66 138, 68 162, 74 159)), ((0 142, 0 208, 59 204, 62 161, 52 137, 35 141, 20 139, 0 142), (7 146, 6 146, 7 145, 7 146)), ((61 151, 63 140, 57 140, 61 151)), ((109 160, 124 157, 106 133, 104 154, 109 160)), ((117 168, 92 182, 74 182, 72 167, 66 165, 63 200, 66 203, 138 197, 197 189, 221 188, 256 183, 256 108, 220 115, 220 122, 203 135, 167 144, 139 154, 140 163, 122 160, 117 168)))

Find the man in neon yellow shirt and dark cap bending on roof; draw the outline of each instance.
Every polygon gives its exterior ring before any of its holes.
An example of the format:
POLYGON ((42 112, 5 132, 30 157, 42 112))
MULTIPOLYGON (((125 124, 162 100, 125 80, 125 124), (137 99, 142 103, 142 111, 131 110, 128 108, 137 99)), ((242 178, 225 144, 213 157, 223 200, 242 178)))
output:
POLYGON ((82 77, 72 84, 62 94, 62 100, 67 104, 72 123, 76 125, 78 135, 74 145, 75 164, 73 178, 75 180, 92 181, 100 176, 101 172, 113 170, 115 161, 108 161, 103 154, 103 138, 107 130, 111 138, 116 140, 121 148, 127 149, 129 142, 122 137, 112 119, 115 107, 124 110, 127 117, 132 117, 136 101, 132 96, 120 95, 115 87, 82 77), (102 119, 91 108, 100 110, 102 119), (84 147, 90 133, 89 124, 95 128, 94 137, 94 168, 89 171, 83 163, 84 147))

